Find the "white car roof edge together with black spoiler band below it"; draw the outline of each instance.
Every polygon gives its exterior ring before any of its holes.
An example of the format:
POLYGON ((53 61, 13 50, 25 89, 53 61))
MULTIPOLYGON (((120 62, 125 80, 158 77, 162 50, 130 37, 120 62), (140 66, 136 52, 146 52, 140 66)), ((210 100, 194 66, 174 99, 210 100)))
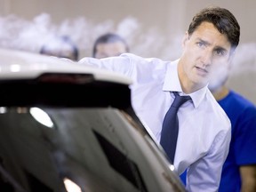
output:
POLYGON ((0 49, 0 106, 131 106, 132 80, 106 69, 0 49))

